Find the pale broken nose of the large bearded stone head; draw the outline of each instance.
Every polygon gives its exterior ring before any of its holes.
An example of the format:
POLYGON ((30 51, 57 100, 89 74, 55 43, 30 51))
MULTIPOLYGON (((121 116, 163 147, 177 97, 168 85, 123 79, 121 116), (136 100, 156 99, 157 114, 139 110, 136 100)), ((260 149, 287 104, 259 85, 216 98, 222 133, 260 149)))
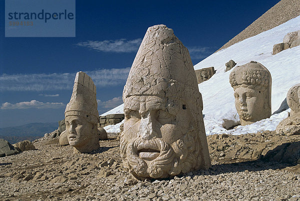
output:
POLYGON ((152 112, 147 112, 144 114, 140 120, 138 136, 145 140, 156 137, 155 121, 155 116, 152 112))

